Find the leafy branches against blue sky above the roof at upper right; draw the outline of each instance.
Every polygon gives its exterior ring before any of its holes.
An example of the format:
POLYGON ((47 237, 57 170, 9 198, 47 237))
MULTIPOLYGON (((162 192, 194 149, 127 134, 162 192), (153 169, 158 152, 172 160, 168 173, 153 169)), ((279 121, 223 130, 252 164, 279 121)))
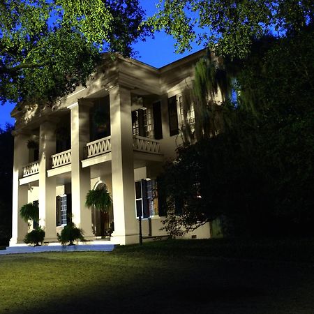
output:
POLYGON ((313 23, 313 14, 311 0, 160 0, 149 24, 172 35, 178 52, 196 40, 219 56, 244 58, 253 40, 299 32, 313 23))

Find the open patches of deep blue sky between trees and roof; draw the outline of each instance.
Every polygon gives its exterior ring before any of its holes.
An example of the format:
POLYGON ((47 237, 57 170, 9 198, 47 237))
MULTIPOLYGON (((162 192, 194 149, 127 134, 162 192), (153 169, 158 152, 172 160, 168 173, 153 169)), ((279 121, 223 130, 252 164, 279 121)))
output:
MULTIPOLYGON (((147 15, 154 14, 156 10, 156 0, 140 0, 142 7, 147 11, 147 15)), ((139 42, 134 45, 134 49, 139 52, 136 59, 148 63, 151 66, 160 68, 168 63, 181 59, 188 54, 200 50, 202 47, 193 45, 190 52, 184 54, 176 54, 174 52, 174 40, 171 36, 160 32, 155 34, 155 38, 147 38, 145 42, 139 42)), ((6 122, 14 124, 14 119, 10 117, 10 112, 13 110, 14 105, 7 103, 0 105, 0 127, 4 128, 6 122)))

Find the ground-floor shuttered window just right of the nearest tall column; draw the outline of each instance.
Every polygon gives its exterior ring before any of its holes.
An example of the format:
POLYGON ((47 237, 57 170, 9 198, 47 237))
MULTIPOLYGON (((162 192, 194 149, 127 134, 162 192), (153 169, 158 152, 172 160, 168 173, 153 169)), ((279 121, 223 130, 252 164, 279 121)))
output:
POLYGON ((156 180, 142 179, 135 182, 135 203, 137 218, 158 215, 156 180))

